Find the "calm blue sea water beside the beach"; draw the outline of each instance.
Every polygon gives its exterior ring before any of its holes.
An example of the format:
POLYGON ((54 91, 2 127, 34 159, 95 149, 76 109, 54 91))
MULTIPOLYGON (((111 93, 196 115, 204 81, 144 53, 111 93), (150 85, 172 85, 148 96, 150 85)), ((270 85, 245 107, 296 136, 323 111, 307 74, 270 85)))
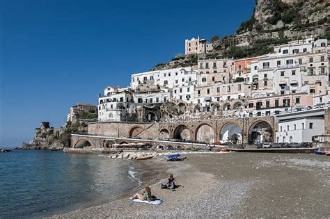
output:
POLYGON ((138 168, 93 154, 0 153, 0 218, 48 216, 110 202, 139 186, 138 168))

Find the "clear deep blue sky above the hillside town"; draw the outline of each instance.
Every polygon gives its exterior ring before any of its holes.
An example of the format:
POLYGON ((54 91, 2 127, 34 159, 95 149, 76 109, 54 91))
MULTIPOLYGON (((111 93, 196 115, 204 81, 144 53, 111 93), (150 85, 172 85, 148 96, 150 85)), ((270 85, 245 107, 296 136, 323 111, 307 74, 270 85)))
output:
POLYGON ((104 87, 184 53, 184 40, 229 35, 255 0, 0 0, 0 147, 65 123, 104 87))

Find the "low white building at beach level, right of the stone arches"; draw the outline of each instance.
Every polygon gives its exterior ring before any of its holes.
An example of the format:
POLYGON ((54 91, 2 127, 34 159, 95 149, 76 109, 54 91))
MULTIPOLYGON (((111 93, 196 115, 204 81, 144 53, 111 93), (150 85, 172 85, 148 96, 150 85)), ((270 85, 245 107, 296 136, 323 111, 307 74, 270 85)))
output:
POLYGON ((312 142, 312 137, 324 133, 324 118, 308 117, 278 122, 276 143, 312 142))

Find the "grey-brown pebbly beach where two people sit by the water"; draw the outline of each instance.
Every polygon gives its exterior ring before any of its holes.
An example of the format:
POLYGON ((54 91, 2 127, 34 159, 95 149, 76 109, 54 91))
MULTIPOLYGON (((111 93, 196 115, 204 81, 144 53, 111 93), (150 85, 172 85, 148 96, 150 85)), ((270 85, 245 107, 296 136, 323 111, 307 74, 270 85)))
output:
MULTIPOLYGON (((330 217, 330 157, 315 154, 189 154, 187 161, 139 161, 138 177, 159 206, 127 196, 53 218, 330 217), (161 189, 173 173, 175 191, 161 189)), ((138 162, 138 161, 136 161, 138 162)))

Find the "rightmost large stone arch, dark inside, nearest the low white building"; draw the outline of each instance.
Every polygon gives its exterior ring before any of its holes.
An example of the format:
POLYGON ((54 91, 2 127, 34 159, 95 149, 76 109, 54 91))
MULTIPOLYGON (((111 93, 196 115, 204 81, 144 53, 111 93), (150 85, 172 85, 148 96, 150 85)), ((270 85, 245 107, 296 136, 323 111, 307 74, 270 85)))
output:
POLYGON ((256 142, 272 142, 273 141, 273 127, 265 120, 258 120, 253 122, 249 127, 249 143, 256 142))

